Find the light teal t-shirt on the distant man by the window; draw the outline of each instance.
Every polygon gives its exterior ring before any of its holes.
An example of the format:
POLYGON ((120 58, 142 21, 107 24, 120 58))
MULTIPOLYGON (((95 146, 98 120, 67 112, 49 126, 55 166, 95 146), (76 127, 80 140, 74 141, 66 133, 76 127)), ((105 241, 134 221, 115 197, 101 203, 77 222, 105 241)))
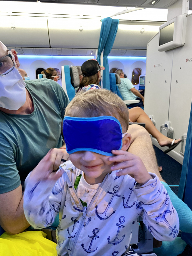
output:
POLYGON ((130 89, 134 88, 134 86, 128 78, 121 78, 121 83, 118 84, 118 88, 124 101, 135 100, 138 98, 134 93, 130 91, 130 89))

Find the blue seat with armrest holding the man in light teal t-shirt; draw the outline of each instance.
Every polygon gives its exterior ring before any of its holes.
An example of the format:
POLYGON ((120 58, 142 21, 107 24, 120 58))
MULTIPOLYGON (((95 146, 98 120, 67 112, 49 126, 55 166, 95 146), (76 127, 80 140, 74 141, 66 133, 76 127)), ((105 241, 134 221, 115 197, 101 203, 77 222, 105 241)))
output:
MULTIPOLYGON (((116 73, 110 73, 109 80, 110 80, 110 90, 112 92, 115 92, 120 98, 122 98, 121 93, 119 92, 119 88, 118 88, 118 84, 121 82, 120 76, 116 73)), ((123 102, 125 104, 139 103, 138 100, 125 100, 123 102)))

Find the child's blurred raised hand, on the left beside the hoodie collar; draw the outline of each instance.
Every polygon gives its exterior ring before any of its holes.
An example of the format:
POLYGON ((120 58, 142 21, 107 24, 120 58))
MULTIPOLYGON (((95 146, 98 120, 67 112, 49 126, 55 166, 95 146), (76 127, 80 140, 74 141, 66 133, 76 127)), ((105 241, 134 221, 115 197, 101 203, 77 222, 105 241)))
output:
POLYGON ((33 178, 35 180, 57 181, 62 176, 63 171, 53 171, 56 158, 57 155, 55 155, 55 151, 53 149, 50 149, 47 155, 45 155, 45 157, 33 169, 30 178, 33 178))

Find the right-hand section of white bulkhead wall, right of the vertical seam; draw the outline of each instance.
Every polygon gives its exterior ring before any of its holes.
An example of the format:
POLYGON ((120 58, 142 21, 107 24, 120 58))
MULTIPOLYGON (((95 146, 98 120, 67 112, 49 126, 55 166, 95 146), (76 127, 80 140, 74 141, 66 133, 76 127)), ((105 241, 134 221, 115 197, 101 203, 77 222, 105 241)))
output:
MULTIPOLYGON (((192 70, 192 15, 187 16, 185 44, 174 49, 169 121, 174 129, 174 139, 187 133, 191 100, 191 70, 192 70)), ((181 146, 174 150, 179 153, 181 146)))

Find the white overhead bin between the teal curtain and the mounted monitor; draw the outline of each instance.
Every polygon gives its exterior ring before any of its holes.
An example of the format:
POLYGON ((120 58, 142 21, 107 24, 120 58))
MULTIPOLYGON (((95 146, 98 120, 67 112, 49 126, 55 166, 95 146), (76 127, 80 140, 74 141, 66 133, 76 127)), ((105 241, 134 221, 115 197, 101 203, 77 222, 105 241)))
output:
POLYGON ((159 26, 119 24, 113 48, 146 49, 147 42, 159 32, 159 26))

